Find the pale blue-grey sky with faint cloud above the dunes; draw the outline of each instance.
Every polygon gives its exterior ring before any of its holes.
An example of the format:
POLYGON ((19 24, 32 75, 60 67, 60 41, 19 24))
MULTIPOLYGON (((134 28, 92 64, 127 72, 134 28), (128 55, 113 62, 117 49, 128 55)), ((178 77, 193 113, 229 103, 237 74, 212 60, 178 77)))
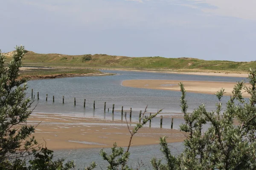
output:
POLYGON ((1 0, 0 49, 256 60, 256 0, 1 0))

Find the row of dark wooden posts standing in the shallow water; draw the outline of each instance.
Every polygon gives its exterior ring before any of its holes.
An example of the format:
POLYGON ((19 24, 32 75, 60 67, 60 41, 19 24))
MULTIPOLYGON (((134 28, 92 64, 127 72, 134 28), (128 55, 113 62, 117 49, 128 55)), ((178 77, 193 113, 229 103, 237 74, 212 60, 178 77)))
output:
MULTIPOLYGON (((33 89, 31 90, 31 98, 35 99, 35 95, 33 96, 33 89)), ((37 92, 37 99, 39 100, 39 92, 37 92)), ((46 101, 48 100, 48 94, 46 94, 46 101)), ((54 96, 52 96, 52 102, 54 102, 54 96)), ((62 96, 62 103, 64 104, 64 96, 62 96)), ((84 108, 85 108, 85 104, 86 104, 86 99, 84 99, 84 108)), ((106 104, 107 102, 104 103, 104 112, 106 112, 106 104)), ((74 98, 74 105, 76 105, 76 97, 74 98)), ((123 120, 123 106, 122 106, 122 110, 121 110, 121 120, 123 120)), ((93 101, 93 109, 95 109, 95 100, 93 101)), ((115 110, 115 104, 113 104, 112 107, 112 113, 114 113, 115 110)), ((108 108, 108 112, 109 112, 109 108, 108 108)), ((130 108, 130 122, 131 122, 131 113, 132 113, 132 108, 130 108)), ((139 119, 141 119, 141 114, 142 111, 140 111, 140 115, 139 115, 139 119)), ((149 113, 149 116, 151 116, 151 113, 149 113)), ((125 117, 126 117, 126 112, 125 112, 125 117)), ((147 118, 147 116, 145 116, 145 119, 147 118)), ((151 127, 151 119, 149 120, 149 127, 151 127)), ((163 127, 163 116, 160 116, 160 128, 163 127)), ((172 124, 171 124, 171 129, 173 128, 173 118, 172 118, 172 124)))

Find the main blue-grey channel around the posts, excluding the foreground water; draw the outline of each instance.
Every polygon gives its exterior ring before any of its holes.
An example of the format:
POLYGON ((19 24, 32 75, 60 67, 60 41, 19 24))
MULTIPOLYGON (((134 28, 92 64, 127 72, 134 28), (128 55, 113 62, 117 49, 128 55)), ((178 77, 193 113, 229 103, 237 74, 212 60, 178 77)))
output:
MULTIPOLYGON (((171 79, 171 80, 195 80, 195 81, 225 81, 236 82, 244 78, 241 77, 213 77, 196 76, 183 74, 165 73, 146 73, 133 71, 107 71, 117 73, 115 76, 106 77, 72 77, 61 79, 44 79, 29 81, 28 96, 31 95, 30 88, 36 93, 39 92, 40 100, 35 100, 37 107, 35 112, 39 113, 67 113, 80 116, 102 116, 104 102, 107 102, 107 110, 133 109, 133 111, 144 110, 148 105, 148 112, 157 112, 164 109, 164 113, 180 113, 179 91, 152 90, 142 88, 129 88, 122 86, 122 81, 127 79, 171 79), (45 101, 48 94, 48 101, 45 101), (52 102, 52 96, 55 102, 52 102), (62 96, 65 96, 65 104, 62 104, 62 96), (76 106, 74 106, 76 97, 76 106), (86 99, 86 108, 83 108, 86 99), (93 101, 96 101, 96 110, 93 110, 93 101)), ((187 93, 189 110, 192 111, 196 106, 205 104, 209 111, 215 109, 217 98, 210 94, 187 93)), ((223 97, 223 102, 227 102, 228 96, 223 97)), ((118 113, 117 113, 118 114, 118 113)), ((116 116, 116 115, 115 115, 116 116)))

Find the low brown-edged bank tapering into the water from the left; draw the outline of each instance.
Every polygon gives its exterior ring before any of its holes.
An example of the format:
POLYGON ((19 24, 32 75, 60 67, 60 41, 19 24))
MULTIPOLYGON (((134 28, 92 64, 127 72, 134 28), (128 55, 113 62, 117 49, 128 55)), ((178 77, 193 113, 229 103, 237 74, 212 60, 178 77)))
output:
POLYGON ((49 74, 49 75, 27 75, 20 76, 19 78, 28 78, 29 80, 39 80, 39 79, 60 79, 68 77, 93 77, 93 76, 113 76, 116 74, 113 73, 88 73, 88 74, 76 74, 76 73, 67 73, 67 74, 49 74))

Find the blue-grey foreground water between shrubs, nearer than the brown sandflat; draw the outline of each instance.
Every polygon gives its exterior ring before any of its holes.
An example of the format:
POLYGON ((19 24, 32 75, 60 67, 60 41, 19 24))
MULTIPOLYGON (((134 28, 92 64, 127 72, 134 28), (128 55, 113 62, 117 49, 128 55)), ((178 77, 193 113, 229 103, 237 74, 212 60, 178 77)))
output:
MULTIPOLYGON (((169 148, 173 155, 177 155, 183 150, 182 142, 169 143, 169 148)), ((126 149, 126 148, 125 148, 126 149)), ((66 159, 76 161, 76 169, 83 169, 84 167, 90 165, 92 161, 96 161, 98 166, 96 170, 106 169, 108 162, 104 161, 99 155, 101 149, 79 149, 79 150, 55 150, 54 155, 55 159, 63 158, 66 155, 66 159)), ((107 153, 111 152, 110 148, 104 149, 107 153)), ((147 145, 147 146, 135 146, 130 148, 131 156, 128 161, 128 165, 131 167, 136 167, 138 162, 143 162, 143 167, 141 169, 152 169, 150 165, 150 159, 156 157, 158 159, 164 158, 163 154, 160 151, 160 144, 147 145), (149 168, 150 167, 150 168, 149 168)), ((165 160, 163 159, 163 162, 165 160)))

